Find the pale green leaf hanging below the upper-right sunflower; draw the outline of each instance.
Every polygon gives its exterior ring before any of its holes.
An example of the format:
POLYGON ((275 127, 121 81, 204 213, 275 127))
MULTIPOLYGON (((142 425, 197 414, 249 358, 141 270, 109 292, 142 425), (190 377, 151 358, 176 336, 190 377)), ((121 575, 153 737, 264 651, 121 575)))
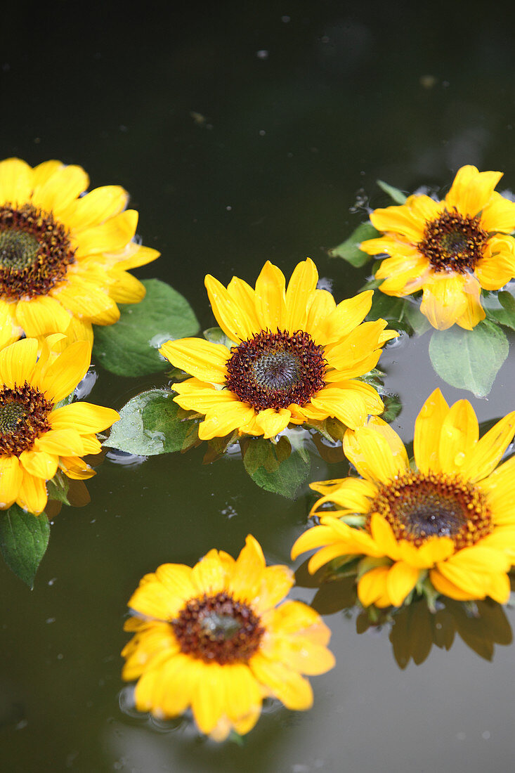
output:
POLYGON ((493 322, 483 320, 472 330, 453 325, 435 330, 429 342, 429 356, 436 373, 457 389, 486 397, 508 356, 508 341, 493 322))

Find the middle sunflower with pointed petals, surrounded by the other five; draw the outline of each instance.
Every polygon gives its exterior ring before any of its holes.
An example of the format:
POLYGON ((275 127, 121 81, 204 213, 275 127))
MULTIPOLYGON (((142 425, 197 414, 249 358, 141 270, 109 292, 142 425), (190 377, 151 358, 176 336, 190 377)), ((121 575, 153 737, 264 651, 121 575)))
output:
POLYGON ((206 276, 213 313, 230 349, 202 339, 163 344, 159 352, 193 378, 172 385, 182 407, 205 414, 201 440, 239 434, 275 437, 288 424, 336 417, 358 427, 384 410, 377 391, 356 380, 377 365, 397 335, 387 322, 363 322, 372 292, 336 305, 316 287, 308 258, 285 277, 267 261, 255 290, 234 277, 227 289, 206 276))

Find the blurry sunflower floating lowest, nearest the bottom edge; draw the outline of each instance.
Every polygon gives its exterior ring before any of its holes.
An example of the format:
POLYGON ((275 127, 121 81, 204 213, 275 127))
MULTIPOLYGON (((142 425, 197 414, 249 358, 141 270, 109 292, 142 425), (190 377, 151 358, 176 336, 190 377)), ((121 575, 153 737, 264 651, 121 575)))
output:
POLYGON ((124 647, 123 678, 138 679, 135 703, 155 717, 191 707, 200 730, 223 741, 254 727, 264 697, 288 709, 312 706, 302 674, 334 666, 329 628, 300 601, 285 601, 292 571, 267 567, 247 536, 237 560, 210 550, 193 568, 163 564, 146 574, 128 602, 139 617, 124 647))

